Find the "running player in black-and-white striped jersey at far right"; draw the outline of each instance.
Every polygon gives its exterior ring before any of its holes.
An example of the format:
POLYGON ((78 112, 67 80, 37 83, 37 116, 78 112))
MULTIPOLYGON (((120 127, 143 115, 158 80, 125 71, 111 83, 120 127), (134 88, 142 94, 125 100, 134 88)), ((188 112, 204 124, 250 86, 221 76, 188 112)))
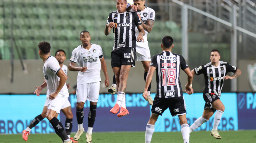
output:
POLYGON ((203 97, 205 105, 203 115, 190 126, 190 132, 197 129, 204 122, 209 121, 209 118, 212 117, 216 111, 211 135, 216 139, 221 139, 218 133, 218 126, 225 109, 219 99, 221 90, 225 79, 234 79, 241 74, 241 71, 227 62, 219 61, 220 55, 217 49, 211 51, 210 60, 210 63, 199 66, 191 71, 193 75, 204 74, 205 88, 203 97), (228 72, 234 72, 234 74, 229 76, 227 75, 228 72))

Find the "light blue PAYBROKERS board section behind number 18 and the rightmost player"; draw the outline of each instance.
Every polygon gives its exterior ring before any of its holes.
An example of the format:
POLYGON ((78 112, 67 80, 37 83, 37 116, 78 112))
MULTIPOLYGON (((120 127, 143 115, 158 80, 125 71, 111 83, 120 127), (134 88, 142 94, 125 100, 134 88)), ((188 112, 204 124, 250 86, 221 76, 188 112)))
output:
MULTIPOLYGON (((185 103, 187 107, 187 120, 188 124, 191 126, 194 121, 201 117, 204 111, 205 101, 203 99, 203 93, 193 93, 188 95, 183 93, 185 98, 185 103)), ((238 118, 237 118, 237 102, 236 93, 222 93, 221 101, 225 106, 225 111, 222 115, 218 130, 228 131, 228 130, 238 130, 238 118)), ((214 114, 215 115, 215 114, 214 114)), ((195 131, 210 131, 212 130, 214 123, 214 115, 210 118, 208 122, 205 122, 195 131)), ((170 111, 167 109, 163 113, 163 116, 159 116, 155 123, 155 131, 180 131, 180 121, 179 117, 172 117, 170 111)))

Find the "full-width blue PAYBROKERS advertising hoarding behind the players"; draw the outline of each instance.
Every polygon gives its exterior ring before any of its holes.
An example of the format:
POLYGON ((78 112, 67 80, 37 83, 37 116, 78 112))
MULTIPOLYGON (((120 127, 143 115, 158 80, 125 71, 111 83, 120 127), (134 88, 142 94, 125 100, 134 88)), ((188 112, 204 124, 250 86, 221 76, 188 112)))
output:
MULTIPOLYGON (((151 94, 154 98, 155 94, 151 94)), ((202 116, 204 109, 204 99, 202 93, 188 95, 184 93, 187 107, 188 124, 202 116)), ((41 114, 46 95, 0 95, 0 133, 16 134, 21 133, 37 115, 41 114)), ((76 95, 70 95, 69 101, 73 112, 72 132, 77 131, 76 121, 76 95)), ((256 125, 249 124, 256 119, 256 94, 255 93, 222 93, 221 101, 225 106, 218 129, 221 131, 238 129, 256 129, 256 125)), ((116 102, 116 95, 100 94, 97 104, 96 121, 93 131, 145 131, 146 124, 150 117, 151 106, 142 97, 141 93, 126 94, 126 107, 129 115, 118 118, 116 114, 110 113, 110 109, 116 102)), ((87 114, 89 112, 89 102, 84 106, 85 117, 84 128, 88 124, 87 114)), ((61 112, 58 117, 62 124, 66 117, 61 112)), ((209 131, 212 129, 214 115, 209 122, 204 123, 196 131, 209 131)), ((167 109, 163 116, 159 116, 155 124, 155 131, 180 131, 179 118, 172 117, 167 109)), ((54 133, 54 129, 45 118, 31 133, 54 133)))

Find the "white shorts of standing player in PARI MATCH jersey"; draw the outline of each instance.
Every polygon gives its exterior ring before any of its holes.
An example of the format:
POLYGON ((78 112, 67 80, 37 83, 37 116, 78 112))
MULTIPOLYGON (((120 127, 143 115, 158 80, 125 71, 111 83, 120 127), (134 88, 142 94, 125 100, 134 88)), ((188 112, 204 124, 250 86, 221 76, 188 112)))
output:
POLYGON ((76 102, 98 102, 100 82, 78 84, 76 87, 76 102))

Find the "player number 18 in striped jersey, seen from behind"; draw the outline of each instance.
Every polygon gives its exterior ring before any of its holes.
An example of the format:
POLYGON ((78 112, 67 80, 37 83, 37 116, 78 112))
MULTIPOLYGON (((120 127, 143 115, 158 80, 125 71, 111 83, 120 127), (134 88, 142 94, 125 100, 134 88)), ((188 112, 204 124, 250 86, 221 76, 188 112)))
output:
POLYGON ((185 59, 178 54, 171 52, 173 39, 170 36, 162 38, 162 53, 154 55, 151 59, 149 72, 146 78, 143 97, 148 98, 148 86, 156 70, 157 91, 151 108, 151 116, 148 121, 145 133, 145 143, 150 143, 155 130, 155 122, 159 115, 169 108, 171 115, 179 116, 181 133, 184 143, 189 143, 189 125, 186 118, 186 104, 180 86, 180 69, 188 75, 188 83, 185 88, 188 94, 194 93, 192 88, 193 74, 190 72, 185 59))

